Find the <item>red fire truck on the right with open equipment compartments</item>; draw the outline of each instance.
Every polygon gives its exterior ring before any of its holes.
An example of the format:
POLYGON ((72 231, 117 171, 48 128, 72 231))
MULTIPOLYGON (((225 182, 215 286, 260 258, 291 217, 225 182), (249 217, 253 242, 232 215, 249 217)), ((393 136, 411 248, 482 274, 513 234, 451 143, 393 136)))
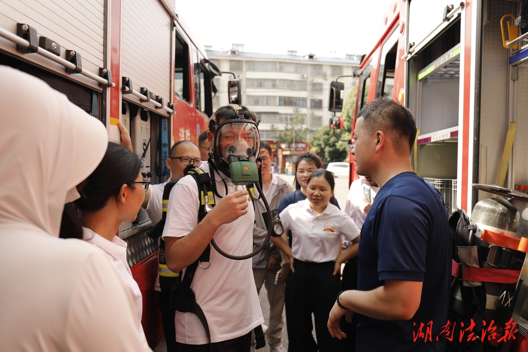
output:
MULTIPOLYGON (((448 212, 461 208, 472 215, 477 202, 496 197, 472 184, 499 185, 506 191, 493 186, 494 193, 510 199, 519 214, 514 237, 528 237, 528 1, 394 0, 383 23, 367 32, 379 34, 356 72, 355 118, 376 98, 404 104, 419 128, 411 154, 414 170, 444 195, 448 212)), ((332 82, 331 88, 331 111, 341 111, 343 86, 332 82)), ((331 128, 340 124, 337 117, 331 120, 331 128)), ((352 182, 358 176, 353 155, 350 160, 352 182)), ((515 299, 507 300, 507 290, 486 292, 486 311, 501 306, 518 329, 513 344, 512 338, 492 343, 496 350, 519 350, 526 335, 525 271, 526 261, 512 291, 515 299)))

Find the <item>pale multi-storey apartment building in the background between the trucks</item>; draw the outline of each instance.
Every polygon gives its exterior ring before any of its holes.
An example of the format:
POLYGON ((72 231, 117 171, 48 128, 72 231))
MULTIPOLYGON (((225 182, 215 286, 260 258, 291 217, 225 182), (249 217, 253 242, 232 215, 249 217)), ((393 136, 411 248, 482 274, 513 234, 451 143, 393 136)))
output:
MULTIPOLYGON (((316 54, 286 55, 247 53, 243 44, 233 44, 227 51, 205 51, 213 63, 222 70, 215 77, 218 92, 213 99, 213 109, 228 101, 227 84, 232 72, 242 85, 242 104, 255 111, 260 119, 261 139, 275 141, 278 130, 284 130, 292 117, 302 115, 304 127, 311 130, 305 141, 333 115, 328 111, 330 82, 338 76, 353 75, 360 64, 360 55, 347 54, 346 58, 323 58, 316 54)), ((345 93, 357 84, 357 78, 343 77, 345 93)), ((301 141, 299 141, 301 142, 301 141)))

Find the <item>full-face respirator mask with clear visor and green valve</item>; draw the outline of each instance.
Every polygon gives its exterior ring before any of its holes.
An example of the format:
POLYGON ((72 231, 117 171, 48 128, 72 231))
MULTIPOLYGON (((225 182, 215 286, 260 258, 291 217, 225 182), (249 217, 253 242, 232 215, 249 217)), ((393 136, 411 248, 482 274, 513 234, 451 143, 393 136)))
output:
POLYGON ((230 106, 238 118, 224 120, 216 127, 213 147, 216 166, 231 178, 233 184, 258 183, 260 136, 257 122, 244 118, 239 105, 230 106))

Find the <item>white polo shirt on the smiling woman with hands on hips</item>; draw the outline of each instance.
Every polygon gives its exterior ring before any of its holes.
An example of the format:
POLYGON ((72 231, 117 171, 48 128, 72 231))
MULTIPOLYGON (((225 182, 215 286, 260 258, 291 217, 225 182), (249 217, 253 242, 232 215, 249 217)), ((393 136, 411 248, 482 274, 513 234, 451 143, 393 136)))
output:
POLYGON ((341 235, 352 241, 360 229, 344 211, 328 203, 321 214, 315 214, 308 199, 280 213, 284 231, 291 231, 291 253, 304 262, 324 263, 337 258, 341 235))

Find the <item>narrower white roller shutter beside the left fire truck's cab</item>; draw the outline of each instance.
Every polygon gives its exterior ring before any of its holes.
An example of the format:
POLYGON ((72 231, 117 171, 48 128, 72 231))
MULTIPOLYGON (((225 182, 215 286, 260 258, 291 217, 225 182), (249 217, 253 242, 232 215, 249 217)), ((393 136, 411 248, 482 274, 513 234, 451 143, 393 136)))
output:
MULTIPOLYGON (((135 91, 144 94, 145 87, 161 96, 164 105, 171 101, 171 36, 172 18, 157 0, 122 3, 122 76, 135 91)), ((139 103, 131 94, 127 98, 139 103)))

